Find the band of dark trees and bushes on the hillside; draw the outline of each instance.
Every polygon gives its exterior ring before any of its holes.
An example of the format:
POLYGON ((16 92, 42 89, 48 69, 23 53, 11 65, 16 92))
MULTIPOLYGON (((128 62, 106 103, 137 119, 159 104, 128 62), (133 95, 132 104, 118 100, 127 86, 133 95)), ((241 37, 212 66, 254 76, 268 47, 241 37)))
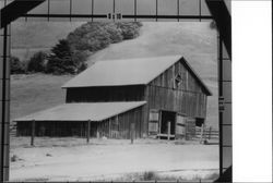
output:
POLYGON ((11 57, 11 74, 78 74, 87 68, 86 60, 110 44, 139 36, 142 24, 88 22, 58 40, 50 52, 38 51, 28 61, 11 57))

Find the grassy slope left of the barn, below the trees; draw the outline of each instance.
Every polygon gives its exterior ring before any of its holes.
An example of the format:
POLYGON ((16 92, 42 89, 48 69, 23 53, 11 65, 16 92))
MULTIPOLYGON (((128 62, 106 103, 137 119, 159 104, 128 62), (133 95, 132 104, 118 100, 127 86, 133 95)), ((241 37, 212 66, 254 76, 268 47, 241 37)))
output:
POLYGON ((63 103, 66 90, 61 85, 70 78, 69 75, 12 75, 11 119, 63 103))

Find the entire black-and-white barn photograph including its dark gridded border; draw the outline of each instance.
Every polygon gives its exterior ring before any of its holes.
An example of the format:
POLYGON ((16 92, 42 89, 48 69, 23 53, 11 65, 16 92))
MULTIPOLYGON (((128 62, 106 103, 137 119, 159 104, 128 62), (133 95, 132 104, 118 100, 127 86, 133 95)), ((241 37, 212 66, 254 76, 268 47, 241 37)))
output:
POLYGON ((0 5, 1 181, 233 181, 229 0, 0 5))

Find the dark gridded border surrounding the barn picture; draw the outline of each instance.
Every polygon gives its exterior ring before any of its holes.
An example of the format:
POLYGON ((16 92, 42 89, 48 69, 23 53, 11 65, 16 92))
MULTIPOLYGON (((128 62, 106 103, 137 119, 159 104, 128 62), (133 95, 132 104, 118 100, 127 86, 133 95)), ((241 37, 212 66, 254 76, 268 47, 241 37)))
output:
MULTIPOLYGON (((27 14, 27 12, 33 9, 34 7, 38 5, 39 3, 44 2, 45 0, 14 0, 10 3, 9 1, 4 0, 4 7, 1 9, 1 62, 0 70, 2 73, 1 81, 2 84, 0 88, 2 89, 1 97, 1 133, 0 133, 0 141, 1 141, 1 181, 9 182, 9 111, 10 111, 10 73, 9 73, 9 58, 10 58, 10 23, 15 21, 16 19, 23 19, 24 21, 28 21, 29 17, 45 17, 47 21, 51 21, 51 19, 68 19, 68 21, 75 21, 73 19, 102 19, 103 21, 123 21, 126 19, 134 20, 134 22, 139 22, 139 20, 154 20, 155 22, 159 22, 161 19, 171 20, 174 22, 180 21, 215 21, 217 30, 218 30, 218 114, 219 114, 219 179, 224 178, 225 171, 230 169, 232 166, 232 144, 224 144, 225 138, 232 138, 232 132, 227 133, 227 136, 224 136, 223 132, 227 131, 227 126, 232 126, 232 112, 225 110, 227 107, 232 107, 232 78, 226 78, 224 73, 232 73, 232 17, 230 12, 228 12, 227 4, 225 4, 224 0, 199 0, 199 15, 180 15, 179 14, 179 5, 177 14, 174 15, 158 15, 158 0, 156 1, 156 14, 155 15, 147 15, 147 14, 136 14, 136 3, 134 3, 134 14, 127 15, 121 14, 121 19, 118 20, 119 13, 115 12, 115 1, 114 2, 114 10, 108 14, 72 14, 70 8, 70 14, 50 14, 49 11, 47 14, 27 14), (202 15, 201 11, 201 1, 205 1, 207 8, 212 15, 202 15), (5 5, 7 4, 7 5, 5 5), (227 66, 229 65, 229 66, 227 66), (226 91, 229 90, 229 91, 226 91), (227 150, 227 151, 225 151, 227 150), (228 154, 224 156, 224 154, 228 154), (229 169, 228 169, 229 168, 229 169)), ((55 0, 48 0, 50 1, 55 0)), ((70 0, 72 1, 72 0, 70 0)), ((95 1, 95 0, 91 0, 95 1)), ((138 0, 134 0, 136 2, 138 0)), ((177 0, 179 4, 180 0, 177 0)), ((3 0, 2 0, 3 2, 3 0)), ((230 1, 227 1, 230 3, 230 1)), ((94 9, 94 8, 93 8, 94 9)), ((232 74, 230 74, 232 75, 232 74)), ((227 171, 226 171, 227 172, 227 171)), ((228 171, 227 178, 232 179, 232 171, 228 171)), ((141 182, 141 181, 139 181, 141 182)), ((152 181, 154 182, 154 181, 152 181)), ((159 182, 159 181, 158 181, 159 182)))

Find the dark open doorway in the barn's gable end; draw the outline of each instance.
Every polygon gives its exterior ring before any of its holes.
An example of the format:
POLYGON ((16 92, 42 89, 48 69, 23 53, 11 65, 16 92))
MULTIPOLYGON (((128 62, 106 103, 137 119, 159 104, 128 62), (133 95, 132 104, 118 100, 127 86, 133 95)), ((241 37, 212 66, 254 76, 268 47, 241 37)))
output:
POLYGON ((170 135, 176 132, 176 112, 162 111, 161 134, 168 134, 168 125, 170 125, 170 135), (169 124, 168 124, 169 123, 169 124))

